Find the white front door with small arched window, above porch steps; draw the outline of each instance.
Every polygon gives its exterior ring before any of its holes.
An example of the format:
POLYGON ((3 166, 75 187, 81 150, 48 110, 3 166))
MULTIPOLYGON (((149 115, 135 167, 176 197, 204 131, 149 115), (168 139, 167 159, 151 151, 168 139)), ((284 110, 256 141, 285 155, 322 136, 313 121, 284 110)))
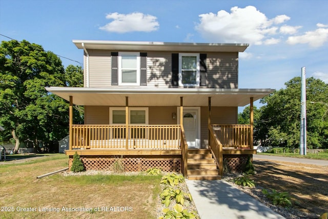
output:
POLYGON ((197 110, 183 110, 183 128, 187 138, 188 148, 198 148, 197 132, 198 132, 198 118, 197 110))

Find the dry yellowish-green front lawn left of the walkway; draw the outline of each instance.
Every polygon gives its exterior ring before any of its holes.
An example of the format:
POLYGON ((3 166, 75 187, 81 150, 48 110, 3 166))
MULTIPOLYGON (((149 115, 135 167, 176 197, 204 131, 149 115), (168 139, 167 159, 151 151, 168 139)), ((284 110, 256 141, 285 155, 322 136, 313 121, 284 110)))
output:
POLYGON ((36 179, 67 166, 65 154, 0 165, 0 218, 155 218, 160 176, 57 174, 36 179))

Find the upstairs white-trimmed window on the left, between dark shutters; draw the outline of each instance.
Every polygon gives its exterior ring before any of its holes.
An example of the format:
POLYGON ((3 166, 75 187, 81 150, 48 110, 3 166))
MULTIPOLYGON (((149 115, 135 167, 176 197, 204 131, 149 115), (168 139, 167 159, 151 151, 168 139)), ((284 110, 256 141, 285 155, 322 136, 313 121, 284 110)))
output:
POLYGON ((118 53, 118 85, 140 85, 140 53, 118 53))

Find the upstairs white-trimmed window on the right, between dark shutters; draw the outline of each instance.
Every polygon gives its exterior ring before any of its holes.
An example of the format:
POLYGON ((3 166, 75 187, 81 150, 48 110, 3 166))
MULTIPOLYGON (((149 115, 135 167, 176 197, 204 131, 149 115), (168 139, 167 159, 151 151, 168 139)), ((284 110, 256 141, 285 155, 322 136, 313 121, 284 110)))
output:
POLYGON ((199 53, 179 53, 179 86, 199 86, 199 53))

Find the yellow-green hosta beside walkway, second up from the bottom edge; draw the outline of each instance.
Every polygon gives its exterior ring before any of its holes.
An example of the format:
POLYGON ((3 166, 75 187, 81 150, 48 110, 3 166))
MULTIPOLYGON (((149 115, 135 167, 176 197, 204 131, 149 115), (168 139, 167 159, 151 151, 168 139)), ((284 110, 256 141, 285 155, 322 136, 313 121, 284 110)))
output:
POLYGON ((171 200, 175 200, 177 204, 185 205, 188 207, 192 201, 190 193, 183 192, 180 189, 174 189, 171 187, 165 188, 160 194, 161 203, 169 207, 171 200))

